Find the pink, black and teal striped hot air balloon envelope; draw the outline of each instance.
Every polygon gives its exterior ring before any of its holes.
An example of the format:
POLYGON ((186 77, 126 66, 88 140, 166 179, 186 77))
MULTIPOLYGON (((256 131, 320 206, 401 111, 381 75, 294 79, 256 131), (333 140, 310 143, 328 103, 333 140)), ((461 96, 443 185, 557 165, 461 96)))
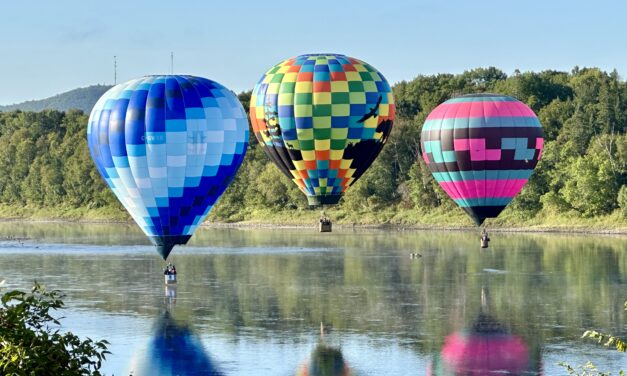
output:
POLYGON ((471 94, 429 114, 421 146, 435 180, 480 226, 497 217, 527 183, 542 155, 544 133, 524 103, 471 94))

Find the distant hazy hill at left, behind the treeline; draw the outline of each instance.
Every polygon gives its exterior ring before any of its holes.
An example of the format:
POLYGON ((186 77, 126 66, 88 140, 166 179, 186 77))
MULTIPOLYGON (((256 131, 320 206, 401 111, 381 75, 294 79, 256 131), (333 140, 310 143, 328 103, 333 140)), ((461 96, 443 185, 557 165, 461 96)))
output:
POLYGON ((109 85, 82 87, 46 99, 0 106, 0 111, 42 111, 47 109, 67 111, 76 108, 88 114, 98 101, 98 98, 110 88, 111 86, 109 85))

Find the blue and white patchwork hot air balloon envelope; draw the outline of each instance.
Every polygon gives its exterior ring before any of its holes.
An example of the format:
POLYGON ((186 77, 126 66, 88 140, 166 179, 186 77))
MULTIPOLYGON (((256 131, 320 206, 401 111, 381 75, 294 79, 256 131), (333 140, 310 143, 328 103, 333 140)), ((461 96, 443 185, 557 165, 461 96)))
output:
POLYGON ((166 259, 233 180, 248 122, 237 97, 217 82, 146 76, 98 100, 87 139, 98 171, 166 259))

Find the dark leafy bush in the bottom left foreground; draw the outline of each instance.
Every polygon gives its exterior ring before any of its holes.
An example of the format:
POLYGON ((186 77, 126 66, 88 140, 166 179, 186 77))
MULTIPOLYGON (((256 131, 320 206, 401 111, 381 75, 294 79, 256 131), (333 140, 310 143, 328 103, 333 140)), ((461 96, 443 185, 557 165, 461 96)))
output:
POLYGON ((5 293, 0 302, 0 374, 100 375, 108 342, 61 333, 51 311, 63 308, 63 295, 35 283, 30 293, 5 293))

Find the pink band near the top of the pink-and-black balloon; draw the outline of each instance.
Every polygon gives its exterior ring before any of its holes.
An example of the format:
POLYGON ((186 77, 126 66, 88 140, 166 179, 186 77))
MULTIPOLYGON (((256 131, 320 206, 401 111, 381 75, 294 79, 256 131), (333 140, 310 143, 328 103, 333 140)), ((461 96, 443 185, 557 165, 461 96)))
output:
POLYGON ((432 119, 459 119, 469 117, 535 117, 522 102, 463 102, 442 103, 427 117, 432 119))

